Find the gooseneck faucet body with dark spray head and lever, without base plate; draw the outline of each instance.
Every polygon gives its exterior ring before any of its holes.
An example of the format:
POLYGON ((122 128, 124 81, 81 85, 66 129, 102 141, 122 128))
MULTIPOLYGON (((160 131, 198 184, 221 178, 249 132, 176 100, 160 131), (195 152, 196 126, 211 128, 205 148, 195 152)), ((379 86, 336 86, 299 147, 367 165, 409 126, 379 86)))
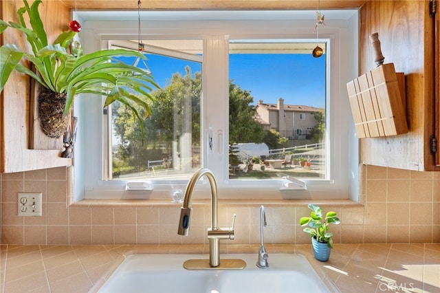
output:
MULTIPOLYGON (((196 173, 192 175, 188 185, 186 186, 184 204, 180 210, 179 228, 177 229, 177 234, 184 236, 189 234, 192 211, 192 192, 194 191, 197 182, 203 175, 208 178, 211 186, 211 228, 208 229, 210 248, 209 265, 211 268, 217 268, 220 265, 220 239, 234 239, 234 224, 232 224, 232 228, 227 229, 218 227, 217 182, 214 174, 209 169, 197 170, 196 173)), ((234 221, 232 221, 232 223, 234 223, 234 221)), ((243 266, 243 263, 240 265, 243 266)))

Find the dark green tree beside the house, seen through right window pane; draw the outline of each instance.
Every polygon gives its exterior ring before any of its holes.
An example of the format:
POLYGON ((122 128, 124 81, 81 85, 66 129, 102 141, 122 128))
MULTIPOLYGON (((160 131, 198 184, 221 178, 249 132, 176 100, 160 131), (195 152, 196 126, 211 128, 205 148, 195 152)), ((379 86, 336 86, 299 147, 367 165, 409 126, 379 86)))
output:
POLYGON ((261 142, 264 137, 263 125, 254 119, 250 91, 229 83, 229 143, 261 142))

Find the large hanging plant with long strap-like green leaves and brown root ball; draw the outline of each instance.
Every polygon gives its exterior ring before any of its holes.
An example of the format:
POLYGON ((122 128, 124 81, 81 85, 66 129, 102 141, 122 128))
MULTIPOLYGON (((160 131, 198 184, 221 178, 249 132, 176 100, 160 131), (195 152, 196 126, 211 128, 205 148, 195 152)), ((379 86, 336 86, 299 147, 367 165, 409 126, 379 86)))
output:
POLYGON ((81 25, 77 21, 71 21, 70 30, 61 33, 53 44, 48 44, 39 14, 42 0, 34 1, 32 6, 29 6, 26 0, 23 0, 23 3, 24 7, 17 11, 19 23, 12 21, 6 23, 0 20, 0 34, 8 28, 23 32, 32 47, 32 53, 25 52, 10 43, 0 47, 0 92, 3 91, 5 83, 14 71, 34 78, 43 87, 39 95, 40 110, 45 105, 50 106, 50 109, 40 112, 41 122, 56 120, 54 129, 48 130, 46 126, 42 127, 45 134, 50 137, 63 135, 65 127, 60 127, 60 124, 66 120, 74 97, 78 94, 105 96, 104 107, 115 100, 122 102, 131 109, 133 117, 139 120, 143 137, 142 120, 151 113, 147 101, 153 100, 149 92, 158 86, 151 74, 135 66, 126 65, 117 58, 123 56, 146 59, 146 57, 140 52, 123 49, 102 50, 83 55, 80 43, 73 41, 74 36, 81 30, 81 25), (30 28, 25 23, 25 14, 30 20, 30 28), (21 63, 23 58, 34 65, 35 72, 21 63), (58 106, 54 106, 55 104, 58 106), (145 110, 144 116, 133 107, 134 104, 140 105, 145 110), (58 118, 54 119, 52 116, 58 118))

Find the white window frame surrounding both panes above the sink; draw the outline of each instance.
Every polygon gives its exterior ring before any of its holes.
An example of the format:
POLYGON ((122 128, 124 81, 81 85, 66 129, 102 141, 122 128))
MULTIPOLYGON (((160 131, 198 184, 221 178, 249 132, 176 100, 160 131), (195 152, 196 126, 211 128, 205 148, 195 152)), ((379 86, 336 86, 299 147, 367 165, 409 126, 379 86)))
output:
MULTIPOLYGON (((93 20, 92 12, 75 13, 74 18, 83 23, 81 43, 87 44, 84 46, 85 53, 100 50, 108 40, 137 39, 137 21, 133 21, 135 17, 128 18, 131 21, 117 21, 116 14, 109 14, 111 21, 108 21, 105 18, 93 20)), ((154 13, 148 14, 148 19, 152 21, 142 21, 143 39, 204 40, 201 129, 202 139, 208 138, 208 129, 212 129, 214 141, 212 151, 203 151, 203 164, 216 176, 221 198, 359 199, 358 140, 355 138, 345 87, 357 75, 357 42, 353 41, 358 39, 357 14, 353 16, 354 12, 351 12, 351 17, 336 20, 333 25, 328 21, 326 27, 320 28, 320 41, 329 41, 327 54, 330 56, 330 65, 327 74, 330 81, 326 92, 331 98, 326 106, 330 113, 326 116, 326 123, 330 125, 327 135, 331 140, 327 142, 329 147, 326 158, 331 160, 327 170, 331 177, 329 180, 307 181, 307 191, 280 191, 281 180, 228 180, 228 119, 217 115, 228 113, 228 42, 229 39, 315 39, 314 21, 311 21, 314 11, 309 11, 304 19, 296 19, 295 15, 299 12, 294 11, 199 12, 199 17, 203 15, 199 21, 194 21, 195 15, 188 17, 185 12, 156 12, 161 14, 159 16, 154 13), (217 19, 210 13, 217 16, 217 19), (175 19, 176 14, 182 20, 170 20, 175 19), (186 17, 190 20, 185 20, 186 17), (225 21, 222 21, 223 18, 225 21), (350 155, 347 156, 347 153, 350 155)), ((122 17, 124 14, 118 12, 118 15, 122 17)), ((327 15, 326 12, 326 20, 329 19, 327 15)), ((99 98, 80 96, 75 100, 75 115, 79 117, 79 124, 74 158, 74 201, 169 198, 172 188, 184 189, 187 180, 153 182, 153 191, 125 191, 124 182, 102 180, 102 168, 106 165, 101 148, 105 141, 102 129, 107 123, 97 115, 102 113, 102 105, 103 100, 99 98)), ((208 186, 199 189, 203 188, 208 190, 208 186)), ((206 194, 201 196, 208 197, 206 194)))

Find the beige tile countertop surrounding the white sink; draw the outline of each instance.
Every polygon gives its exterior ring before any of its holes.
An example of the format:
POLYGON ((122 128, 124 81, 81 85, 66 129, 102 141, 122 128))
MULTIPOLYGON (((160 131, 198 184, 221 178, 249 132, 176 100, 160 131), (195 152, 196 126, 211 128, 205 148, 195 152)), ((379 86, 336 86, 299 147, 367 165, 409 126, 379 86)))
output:
MULTIPOLYGON (((203 245, 0 246, 0 292, 95 292, 124 256, 208 253, 203 245)), ((256 245, 221 246, 222 254, 255 253, 256 245)), ((267 245, 299 253, 340 292, 440 292, 440 243, 336 244, 328 262, 311 245, 267 245)), ((208 257, 208 255, 207 255, 208 257)))

